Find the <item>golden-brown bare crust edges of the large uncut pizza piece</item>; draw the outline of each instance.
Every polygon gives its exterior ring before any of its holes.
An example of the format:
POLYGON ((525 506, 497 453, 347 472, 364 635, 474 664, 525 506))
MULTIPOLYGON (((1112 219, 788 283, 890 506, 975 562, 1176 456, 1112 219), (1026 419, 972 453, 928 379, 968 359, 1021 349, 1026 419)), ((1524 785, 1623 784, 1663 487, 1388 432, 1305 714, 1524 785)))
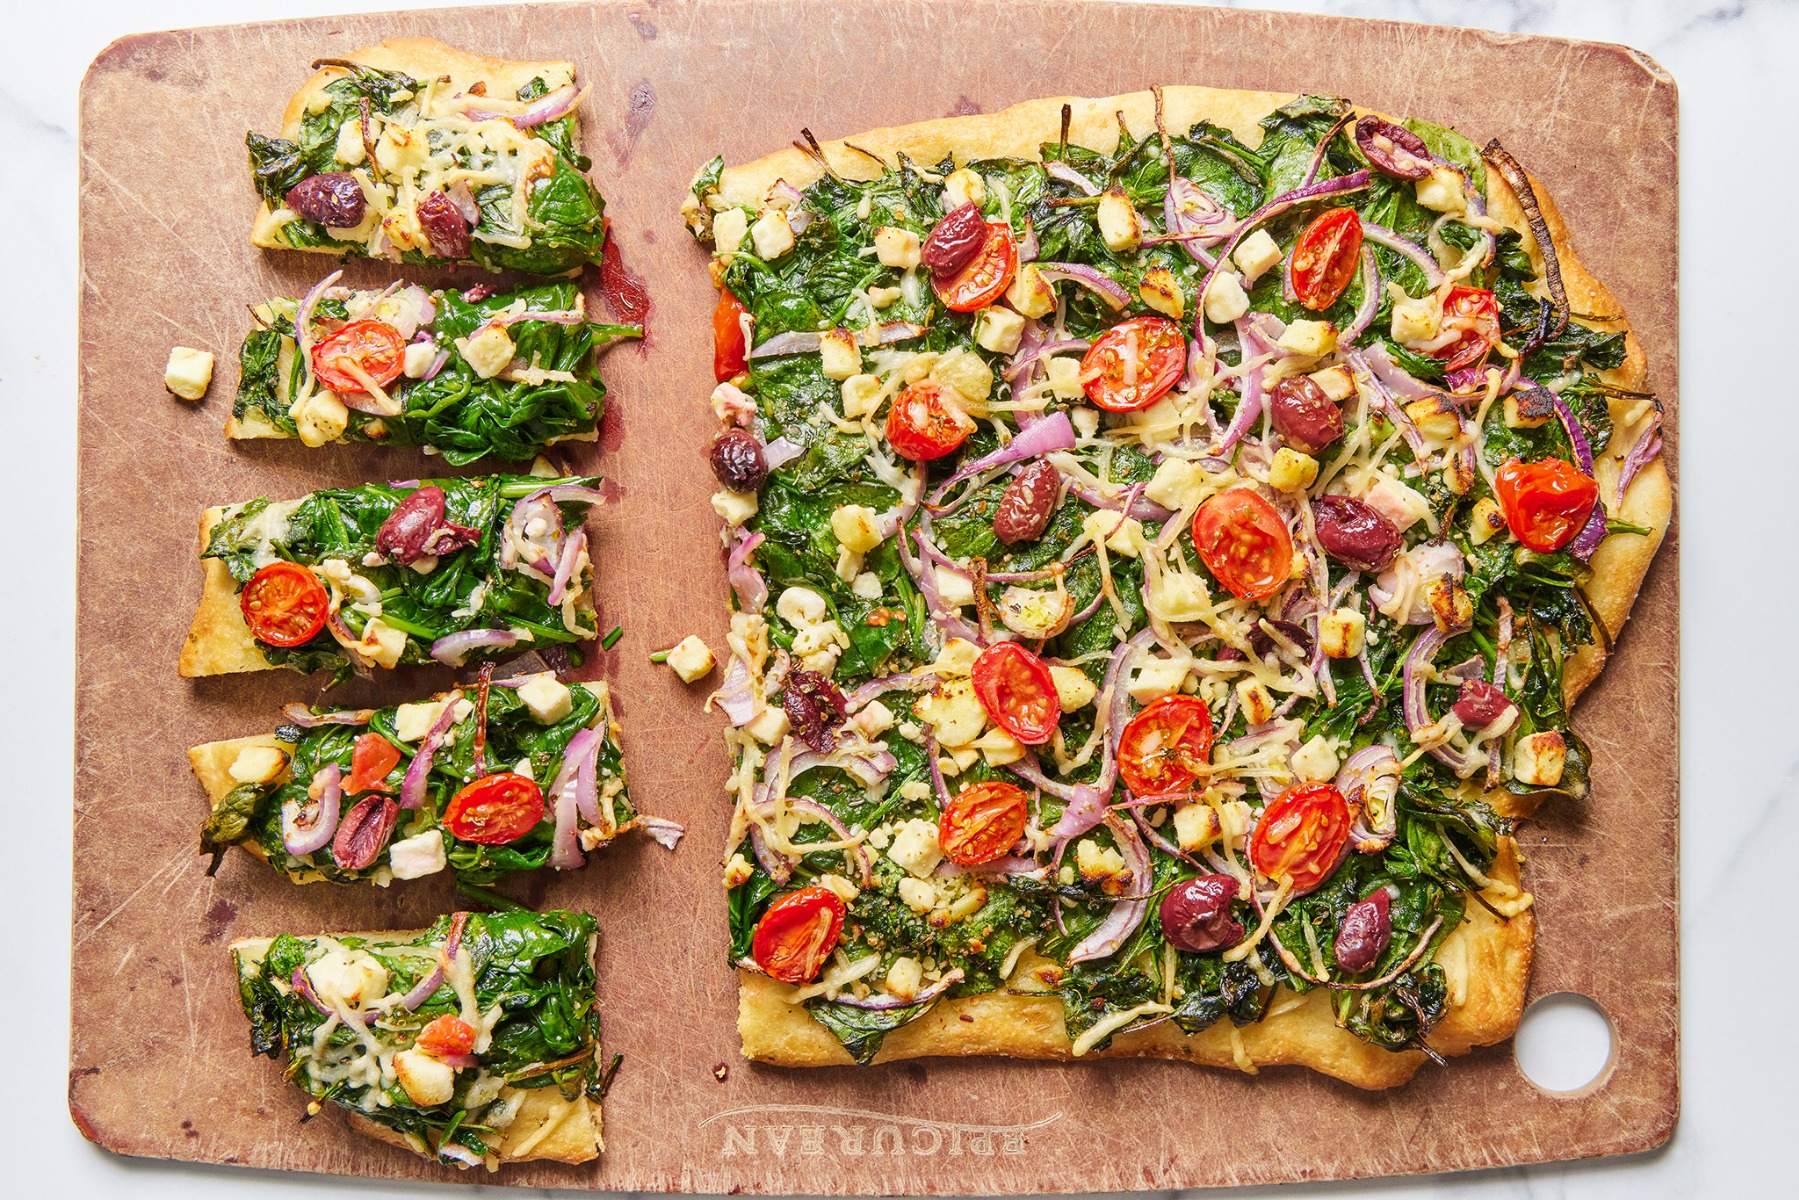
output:
MULTIPOLYGON (((1191 128, 1205 119, 1231 130, 1245 142, 1261 139, 1259 121, 1293 99, 1279 92, 1231 92, 1218 88, 1169 86, 1162 90, 1166 122, 1171 130, 1191 128)), ((873 130, 837 142, 822 151, 835 171, 849 178, 873 178, 905 153, 919 164, 937 164, 944 157, 957 162, 975 158, 1040 158, 1040 146, 1061 131, 1061 108, 1070 106, 1069 140, 1099 151, 1119 140, 1119 113, 1133 137, 1155 128, 1155 97, 1133 92, 1105 99, 1056 97, 1027 101, 1013 108, 973 117, 943 117, 912 126, 873 130), (876 162, 876 158, 880 162, 876 162)), ((1360 110, 1367 112, 1367 110, 1360 110)), ((757 162, 727 167, 720 194, 727 203, 761 203, 777 180, 806 187, 822 167, 799 149, 784 149, 757 162)), ((1562 277, 1576 313, 1607 317, 1583 320, 1605 329, 1630 331, 1623 306, 1594 279, 1569 239, 1567 225, 1554 200, 1535 187, 1549 227, 1562 277)), ((1495 171, 1488 171, 1488 210, 1511 228, 1526 232, 1526 245, 1540 261, 1540 252, 1524 221, 1511 189, 1495 171)), ((1605 380, 1619 389, 1642 390, 1646 356, 1635 335, 1628 338, 1628 358, 1605 380)), ((1642 538, 1610 538, 1594 554, 1594 578, 1585 594, 1612 639, 1624 626, 1637 588, 1671 518, 1671 484, 1660 461, 1644 468, 1621 504, 1614 502, 1623 453, 1633 444, 1646 412, 1639 401, 1612 403, 1614 435, 1596 464, 1601 497, 1612 516, 1651 529, 1642 538), (1635 419, 1626 419, 1635 416, 1635 419)), ((1605 651, 1581 648, 1569 660, 1565 691, 1569 702, 1598 676, 1605 651)), ((1511 885, 1518 882, 1517 847, 1506 840, 1491 876, 1511 885)), ((1509 921, 1473 907, 1463 927, 1443 945, 1437 961, 1459 979, 1461 1002, 1454 1004, 1430 1036, 1439 1054, 1464 1054, 1475 1045, 1509 1038, 1524 1011, 1535 943, 1535 914, 1526 909, 1509 921)), ((1452 988, 1454 990, 1454 988, 1452 988)), ((847 1063, 849 1054, 804 1007, 784 999, 788 990, 766 977, 743 972, 739 993, 739 1034, 748 1058, 792 1067, 847 1063)), ((1069 1058, 1070 1043, 1061 1024, 1061 1006, 1054 997, 1018 997, 988 993, 939 1002, 921 1020, 887 1034, 876 1061, 928 1054, 1009 1054, 1018 1058, 1069 1058), (962 1020, 971 1016, 973 1020, 962 1020)), ((1279 1016, 1247 1029, 1222 1022, 1200 1034, 1182 1034, 1164 1022, 1121 1034, 1105 1056, 1184 1058, 1214 1067, 1256 1069, 1259 1065, 1304 1065, 1364 1088, 1396 1087, 1410 1079, 1425 1060, 1419 1052, 1394 1054, 1376 1049, 1338 1029, 1322 991, 1279 1016)))

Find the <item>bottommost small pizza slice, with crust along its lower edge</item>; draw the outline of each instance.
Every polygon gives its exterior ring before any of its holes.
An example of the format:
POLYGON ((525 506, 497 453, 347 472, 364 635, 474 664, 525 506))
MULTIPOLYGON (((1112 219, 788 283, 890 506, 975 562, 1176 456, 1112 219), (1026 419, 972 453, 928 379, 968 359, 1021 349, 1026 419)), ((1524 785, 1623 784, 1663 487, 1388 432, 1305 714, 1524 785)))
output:
POLYGON ((601 1151, 604 1072, 586 912, 455 912, 423 932, 230 946, 250 1051, 286 1054, 302 1121, 461 1168, 601 1151))

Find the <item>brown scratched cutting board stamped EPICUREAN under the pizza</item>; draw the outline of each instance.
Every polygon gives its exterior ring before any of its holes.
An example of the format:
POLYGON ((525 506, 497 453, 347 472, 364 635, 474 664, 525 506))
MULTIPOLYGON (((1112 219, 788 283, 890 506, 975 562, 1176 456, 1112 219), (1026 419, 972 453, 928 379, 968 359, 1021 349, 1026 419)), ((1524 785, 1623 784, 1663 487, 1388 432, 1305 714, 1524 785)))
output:
MULTIPOLYGON (((1587 1096, 1529 1085, 1511 1049, 1365 1096, 1301 1070, 1177 1063, 928 1060, 792 1072, 738 1054, 718 851, 725 754, 703 689, 648 651, 723 644, 725 581, 702 457, 712 290, 676 218, 693 171, 786 146, 1054 94, 1153 83, 1313 90, 1500 137, 1554 193, 1581 257, 1621 297, 1675 410, 1675 85, 1621 47, 1423 25, 1108 4, 829 0, 507 5, 144 34, 113 43, 81 94, 81 552, 74 1036, 68 1103, 128 1155, 484 1182, 347 1132, 246 1052, 225 946, 277 930, 408 928, 455 907, 443 883, 290 887, 246 855, 207 878, 203 799, 183 748, 270 725, 313 682, 175 675, 200 588, 207 504, 434 470, 410 450, 227 444, 245 304, 299 295, 322 255, 246 243, 243 131, 273 133, 315 58, 432 34, 513 58, 570 58, 592 85, 586 149, 624 261, 655 297, 649 338, 606 358, 613 410, 574 455, 615 495, 595 520, 603 628, 631 790, 685 822, 667 855, 633 840, 538 905, 606 930, 606 1153, 497 1182, 617 1191, 1031 1193, 1445 1171, 1626 1153, 1677 1114, 1677 549, 1669 536, 1578 729, 1594 797, 1529 826, 1540 939, 1531 993, 1594 997, 1616 1065, 1587 1096), (171 344, 212 349, 198 407, 160 385, 171 344), (729 1074, 725 1072, 729 1067, 729 1074), (725 1076, 725 1078, 718 1078, 725 1076)), ((390 277, 358 264, 354 281, 390 277)), ((466 279, 466 275, 462 275, 466 279)), ((595 297, 597 299, 597 297, 595 297)), ((1668 459, 1673 466, 1669 421, 1668 459)), ((394 702, 446 676, 347 689, 394 702)))

